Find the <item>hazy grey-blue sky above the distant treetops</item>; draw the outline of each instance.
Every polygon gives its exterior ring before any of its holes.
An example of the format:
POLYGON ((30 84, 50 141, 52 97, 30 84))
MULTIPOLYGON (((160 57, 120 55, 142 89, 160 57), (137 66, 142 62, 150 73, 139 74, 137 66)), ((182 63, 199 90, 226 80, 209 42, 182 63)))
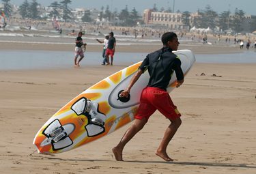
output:
MULTIPOLYGON (((10 3, 20 5, 25 0, 11 0, 10 3)), ((31 2, 31 0, 28 0, 31 2)), ((48 6, 53 1, 60 2, 62 0, 37 0, 38 3, 48 6)), ((128 5, 128 10, 131 11, 135 8, 140 14, 147 8, 153 8, 154 3, 158 10, 164 7, 173 9, 173 1, 175 1, 174 11, 180 10, 181 12, 196 12, 198 9, 204 10, 206 5, 210 5, 212 9, 218 14, 223 11, 230 10, 234 12, 236 8, 243 10, 245 14, 256 15, 256 0, 72 0, 71 8, 96 8, 98 10, 103 6, 109 5, 112 11, 115 9, 120 12, 128 5)))

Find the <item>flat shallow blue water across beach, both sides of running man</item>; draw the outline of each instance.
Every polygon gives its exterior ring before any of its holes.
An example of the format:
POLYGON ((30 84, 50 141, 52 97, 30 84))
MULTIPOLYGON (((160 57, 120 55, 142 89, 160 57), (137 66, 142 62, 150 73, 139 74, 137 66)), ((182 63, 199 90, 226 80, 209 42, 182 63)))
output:
MULTIPOLYGON (((102 53, 86 52, 81 66, 98 66, 102 63, 102 53)), ((116 53, 114 65, 129 66, 141 61, 147 53, 116 53)), ((256 51, 242 53, 195 55, 198 63, 256 63, 256 51)), ((70 68, 74 65, 72 51, 46 50, 0 50, 0 70, 27 70, 70 68)))

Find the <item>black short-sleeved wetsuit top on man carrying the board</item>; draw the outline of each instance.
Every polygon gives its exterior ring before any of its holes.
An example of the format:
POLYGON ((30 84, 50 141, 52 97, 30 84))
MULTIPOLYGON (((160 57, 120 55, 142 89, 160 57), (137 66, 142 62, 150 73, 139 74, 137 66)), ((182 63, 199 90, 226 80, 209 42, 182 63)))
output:
POLYGON ((158 87, 166 91, 173 71, 175 71, 178 81, 183 80, 184 74, 180 67, 181 64, 180 59, 172 53, 170 48, 163 47, 147 55, 139 69, 143 70, 143 72, 148 69, 150 73, 148 87, 158 87))

